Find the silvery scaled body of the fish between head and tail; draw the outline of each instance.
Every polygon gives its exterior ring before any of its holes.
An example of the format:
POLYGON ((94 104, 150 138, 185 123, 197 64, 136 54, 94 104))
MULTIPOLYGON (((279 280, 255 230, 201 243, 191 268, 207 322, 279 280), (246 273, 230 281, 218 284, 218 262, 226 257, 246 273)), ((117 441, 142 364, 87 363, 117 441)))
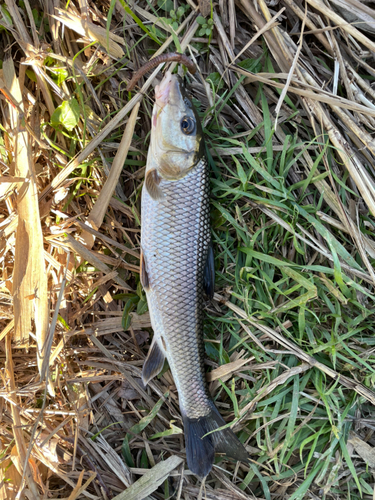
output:
POLYGON ((207 162, 201 160, 180 181, 162 180, 160 188, 161 201, 145 189, 142 193, 147 300, 156 320, 154 334, 159 345, 161 338, 166 345, 180 405, 188 417, 199 418, 210 411, 202 340, 203 272, 210 242, 207 162))

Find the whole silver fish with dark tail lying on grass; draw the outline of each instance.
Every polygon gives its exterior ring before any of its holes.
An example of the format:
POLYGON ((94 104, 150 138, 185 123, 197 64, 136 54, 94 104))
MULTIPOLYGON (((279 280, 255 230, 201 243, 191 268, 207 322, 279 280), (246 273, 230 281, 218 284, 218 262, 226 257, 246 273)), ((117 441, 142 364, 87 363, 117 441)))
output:
POLYGON ((209 171, 202 126, 183 80, 166 72, 155 88, 141 200, 141 270, 154 331, 143 383, 165 359, 179 396, 189 469, 203 478, 215 452, 248 462, 217 410, 204 370, 204 292, 214 294, 209 171))

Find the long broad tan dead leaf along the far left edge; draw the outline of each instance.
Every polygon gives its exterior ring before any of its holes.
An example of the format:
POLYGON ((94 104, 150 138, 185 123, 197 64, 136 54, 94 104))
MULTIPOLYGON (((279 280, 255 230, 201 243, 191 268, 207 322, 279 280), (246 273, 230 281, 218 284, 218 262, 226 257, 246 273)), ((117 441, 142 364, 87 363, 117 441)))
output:
MULTIPOLYGON (((12 96, 21 103, 20 83, 13 60, 4 61, 4 79, 12 96)), ((28 132, 21 126, 18 111, 9 106, 15 131, 13 154, 16 177, 24 178, 17 196, 18 228, 13 273, 14 340, 18 347, 29 344, 35 325, 38 366, 41 367, 48 328, 47 276, 43 259, 43 235, 40 224, 38 187, 28 132)))

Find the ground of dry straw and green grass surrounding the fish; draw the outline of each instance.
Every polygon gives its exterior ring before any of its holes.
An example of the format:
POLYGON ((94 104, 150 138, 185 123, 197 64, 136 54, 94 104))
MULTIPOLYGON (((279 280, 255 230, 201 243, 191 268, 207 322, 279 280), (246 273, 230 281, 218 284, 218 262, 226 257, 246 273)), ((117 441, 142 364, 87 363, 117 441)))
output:
POLYGON ((0 4, 0 499, 374 498, 374 23, 368 0, 0 4), (168 367, 140 379, 162 73, 126 85, 171 51, 210 166, 207 377, 251 457, 203 485, 168 367))

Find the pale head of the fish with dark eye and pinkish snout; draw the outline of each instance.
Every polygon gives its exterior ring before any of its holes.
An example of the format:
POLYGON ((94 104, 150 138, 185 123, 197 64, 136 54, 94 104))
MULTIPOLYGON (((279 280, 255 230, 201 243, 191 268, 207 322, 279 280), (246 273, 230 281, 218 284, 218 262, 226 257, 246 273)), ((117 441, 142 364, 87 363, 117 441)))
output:
POLYGON ((158 175, 179 180, 203 155, 202 127, 182 79, 166 72, 155 88, 152 151, 158 175))

